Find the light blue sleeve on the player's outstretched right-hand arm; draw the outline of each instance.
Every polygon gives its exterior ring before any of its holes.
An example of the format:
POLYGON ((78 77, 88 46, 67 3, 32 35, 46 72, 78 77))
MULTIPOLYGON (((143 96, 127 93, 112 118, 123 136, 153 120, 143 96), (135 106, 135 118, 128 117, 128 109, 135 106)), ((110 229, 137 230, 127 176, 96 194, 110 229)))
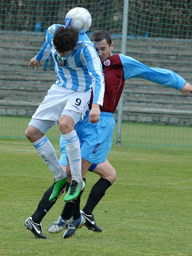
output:
POLYGON ((123 54, 119 54, 119 57, 123 65, 125 79, 141 77, 157 84, 167 85, 178 90, 181 90, 186 83, 186 80, 183 77, 172 70, 150 68, 145 64, 123 54))

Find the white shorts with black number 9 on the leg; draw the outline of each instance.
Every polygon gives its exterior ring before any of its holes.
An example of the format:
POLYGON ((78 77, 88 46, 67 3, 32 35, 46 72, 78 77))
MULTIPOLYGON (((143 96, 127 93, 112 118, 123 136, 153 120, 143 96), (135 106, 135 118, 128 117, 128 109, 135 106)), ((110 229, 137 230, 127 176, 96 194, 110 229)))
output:
POLYGON ((53 84, 32 118, 58 123, 60 116, 65 114, 66 110, 71 110, 82 114, 80 118, 82 120, 90 97, 91 89, 86 92, 76 92, 53 84))

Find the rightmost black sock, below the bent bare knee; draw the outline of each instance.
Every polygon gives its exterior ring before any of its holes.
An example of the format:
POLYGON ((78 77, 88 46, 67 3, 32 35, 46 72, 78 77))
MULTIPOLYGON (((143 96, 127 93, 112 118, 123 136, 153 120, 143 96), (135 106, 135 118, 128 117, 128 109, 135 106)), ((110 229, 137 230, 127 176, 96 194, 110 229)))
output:
POLYGON ((91 215, 95 206, 105 195, 105 191, 111 186, 111 182, 104 178, 100 178, 92 187, 86 205, 83 208, 85 214, 91 215))

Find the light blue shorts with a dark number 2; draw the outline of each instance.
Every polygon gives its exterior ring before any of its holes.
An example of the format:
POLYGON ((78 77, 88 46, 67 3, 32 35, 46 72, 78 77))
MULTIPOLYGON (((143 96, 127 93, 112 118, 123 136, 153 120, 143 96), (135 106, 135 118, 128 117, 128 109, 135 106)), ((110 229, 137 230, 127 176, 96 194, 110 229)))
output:
MULTIPOLYGON (((89 112, 86 113, 83 121, 78 122, 75 125, 75 130, 80 140, 81 156, 83 159, 95 164, 105 162, 107 155, 110 152, 113 131, 115 127, 115 119, 113 113, 101 112, 99 122, 92 124, 88 122, 89 112)), ((60 163, 65 165, 66 163, 66 147, 63 136, 60 138, 60 163)), ((93 171, 93 166, 90 167, 90 171, 93 171)))

